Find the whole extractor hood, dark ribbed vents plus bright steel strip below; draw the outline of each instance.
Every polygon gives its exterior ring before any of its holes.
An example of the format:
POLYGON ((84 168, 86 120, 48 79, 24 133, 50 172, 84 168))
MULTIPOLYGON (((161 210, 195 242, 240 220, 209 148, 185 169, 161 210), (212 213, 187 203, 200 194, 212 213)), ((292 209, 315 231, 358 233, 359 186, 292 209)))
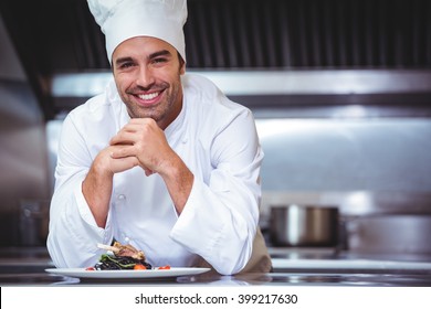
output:
MULTIPOLYGON (((189 0, 188 7, 189 70, 204 71, 245 105, 429 105, 428 0, 189 0), (223 82, 238 75, 243 83, 223 82)), ((82 103, 57 96, 59 78, 109 72, 104 36, 85 0, 25 7, 2 0, 0 11, 45 118, 82 103)))

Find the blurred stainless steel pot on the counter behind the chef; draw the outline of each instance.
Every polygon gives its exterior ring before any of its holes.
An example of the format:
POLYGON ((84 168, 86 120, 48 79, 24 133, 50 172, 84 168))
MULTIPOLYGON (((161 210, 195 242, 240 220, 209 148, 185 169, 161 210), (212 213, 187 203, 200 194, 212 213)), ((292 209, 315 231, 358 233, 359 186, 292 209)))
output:
POLYGON ((336 246, 338 224, 336 206, 272 206, 270 237, 274 246, 336 246))

